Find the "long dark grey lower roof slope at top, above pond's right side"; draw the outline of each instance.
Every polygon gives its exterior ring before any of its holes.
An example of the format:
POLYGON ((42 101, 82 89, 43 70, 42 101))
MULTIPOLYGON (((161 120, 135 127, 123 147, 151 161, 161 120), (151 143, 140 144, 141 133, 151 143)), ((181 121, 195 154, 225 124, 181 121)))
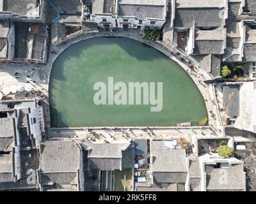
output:
POLYGON ((195 21, 196 27, 219 27, 221 8, 177 8, 175 11, 175 27, 191 27, 195 21))

